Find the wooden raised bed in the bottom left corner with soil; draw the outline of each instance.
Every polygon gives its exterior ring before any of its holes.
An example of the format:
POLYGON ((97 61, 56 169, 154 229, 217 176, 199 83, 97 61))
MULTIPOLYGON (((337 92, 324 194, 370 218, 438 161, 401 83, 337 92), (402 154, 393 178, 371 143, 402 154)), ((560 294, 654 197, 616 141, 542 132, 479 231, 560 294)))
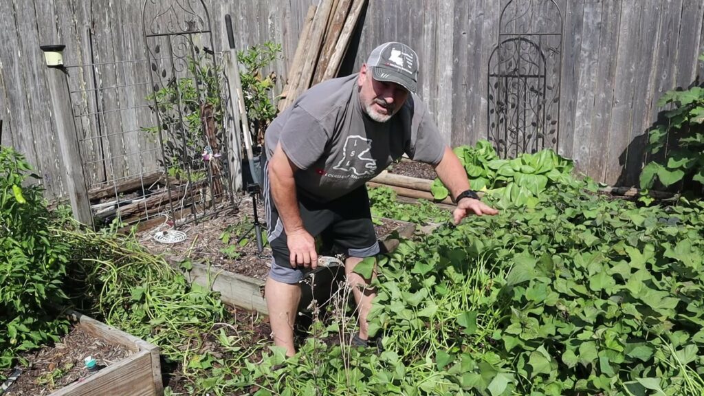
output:
POLYGON ((75 311, 73 329, 55 345, 27 354, 23 370, 4 396, 161 395, 158 347, 75 311), (91 356, 99 371, 83 359, 91 356))

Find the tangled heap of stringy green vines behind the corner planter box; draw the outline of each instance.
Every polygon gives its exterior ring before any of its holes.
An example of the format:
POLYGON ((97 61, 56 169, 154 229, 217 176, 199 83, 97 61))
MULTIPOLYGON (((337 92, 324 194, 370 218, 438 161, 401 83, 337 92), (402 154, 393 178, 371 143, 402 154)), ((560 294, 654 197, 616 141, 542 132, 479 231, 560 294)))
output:
POLYGON ((146 252, 131 235, 54 233, 73 246, 71 278, 76 304, 111 326, 161 348, 168 361, 188 361, 224 307, 218 295, 189 285, 163 258, 146 252))

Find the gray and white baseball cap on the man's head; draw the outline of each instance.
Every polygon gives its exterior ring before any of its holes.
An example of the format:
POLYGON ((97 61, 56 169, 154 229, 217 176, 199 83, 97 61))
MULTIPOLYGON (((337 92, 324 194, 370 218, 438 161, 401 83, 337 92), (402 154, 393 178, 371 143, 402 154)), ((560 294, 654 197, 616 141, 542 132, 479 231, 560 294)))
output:
POLYGON ((418 85, 418 55, 406 44, 386 42, 375 48, 367 59, 377 81, 396 82, 415 93, 418 85))

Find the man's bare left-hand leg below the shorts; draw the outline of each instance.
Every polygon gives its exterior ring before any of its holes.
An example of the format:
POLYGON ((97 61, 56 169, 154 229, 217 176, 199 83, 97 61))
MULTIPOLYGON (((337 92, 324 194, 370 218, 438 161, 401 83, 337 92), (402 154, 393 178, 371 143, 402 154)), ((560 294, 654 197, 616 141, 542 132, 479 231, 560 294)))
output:
POLYGON ((294 356, 294 323, 298 302, 301 300, 301 286, 289 285, 269 277, 264 289, 269 310, 269 323, 277 347, 286 348, 287 356, 294 356))

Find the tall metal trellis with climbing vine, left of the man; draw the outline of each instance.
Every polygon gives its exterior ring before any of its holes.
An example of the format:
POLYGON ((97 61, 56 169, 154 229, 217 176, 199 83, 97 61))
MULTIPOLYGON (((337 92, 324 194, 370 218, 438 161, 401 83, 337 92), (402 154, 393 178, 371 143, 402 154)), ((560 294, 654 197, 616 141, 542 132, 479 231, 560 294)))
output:
MULTIPOLYGON (((234 206, 222 68, 202 0, 146 0, 144 44, 172 211, 197 221, 234 206)), ((178 214, 177 214, 178 216, 178 214)), ((181 216, 182 217, 182 216, 181 216)))

